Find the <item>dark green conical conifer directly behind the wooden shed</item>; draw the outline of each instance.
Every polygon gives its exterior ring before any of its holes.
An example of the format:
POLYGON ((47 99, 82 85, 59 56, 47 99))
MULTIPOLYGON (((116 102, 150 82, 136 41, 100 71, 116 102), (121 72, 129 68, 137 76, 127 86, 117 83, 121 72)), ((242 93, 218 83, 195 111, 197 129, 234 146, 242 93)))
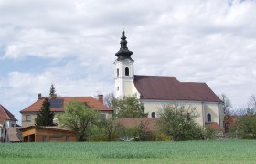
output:
POLYGON ((50 102, 45 98, 42 107, 37 113, 35 119, 37 126, 53 126, 54 113, 50 111, 50 102))

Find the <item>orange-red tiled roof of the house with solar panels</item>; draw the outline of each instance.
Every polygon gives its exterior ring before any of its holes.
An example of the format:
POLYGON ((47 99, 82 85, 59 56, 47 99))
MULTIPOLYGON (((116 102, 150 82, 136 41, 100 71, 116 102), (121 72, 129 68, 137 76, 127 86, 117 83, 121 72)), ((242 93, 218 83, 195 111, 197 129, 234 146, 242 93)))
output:
MULTIPOLYGON (((23 109, 20 111, 20 113, 23 112, 37 112, 42 107, 42 104, 44 102, 44 99, 51 97, 42 97, 41 99, 37 100, 34 104, 30 105, 29 107, 23 109)), ((112 111, 112 108, 108 108, 105 105, 103 105, 99 100, 93 98, 93 97, 55 97, 55 99, 63 99, 63 104, 68 104, 70 101, 79 101, 86 103, 89 108, 95 108, 99 111, 112 111)), ((64 107, 62 108, 50 108, 51 111, 54 112, 62 112, 64 111, 64 107)))

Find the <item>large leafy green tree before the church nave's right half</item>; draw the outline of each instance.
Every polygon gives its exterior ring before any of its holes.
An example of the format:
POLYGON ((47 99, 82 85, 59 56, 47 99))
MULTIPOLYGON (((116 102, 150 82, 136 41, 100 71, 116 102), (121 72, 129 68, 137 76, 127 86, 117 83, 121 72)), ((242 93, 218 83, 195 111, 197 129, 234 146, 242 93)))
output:
POLYGON ((173 140, 201 139, 202 131, 197 126, 195 118, 199 117, 196 108, 170 104, 159 113, 158 127, 166 134, 171 135, 173 140))

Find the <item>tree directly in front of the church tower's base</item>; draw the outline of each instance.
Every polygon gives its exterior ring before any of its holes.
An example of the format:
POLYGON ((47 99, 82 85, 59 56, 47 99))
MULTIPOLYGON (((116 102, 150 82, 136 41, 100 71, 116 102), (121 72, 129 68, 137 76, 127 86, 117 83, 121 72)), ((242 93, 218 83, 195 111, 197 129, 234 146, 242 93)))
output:
POLYGON ((143 118, 148 115, 148 113, 144 113, 144 105, 136 95, 113 98, 112 108, 118 118, 143 118))

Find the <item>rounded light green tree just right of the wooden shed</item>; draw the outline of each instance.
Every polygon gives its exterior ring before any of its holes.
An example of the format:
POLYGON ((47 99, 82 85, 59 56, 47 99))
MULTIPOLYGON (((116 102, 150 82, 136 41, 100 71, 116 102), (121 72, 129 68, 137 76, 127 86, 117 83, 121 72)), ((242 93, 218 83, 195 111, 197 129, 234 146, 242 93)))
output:
POLYGON ((88 108, 84 103, 71 101, 65 106, 65 112, 58 115, 61 127, 70 128, 77 132, 78 140, 83 141, 86 132, 95 124, 98 113, 93 108, 88 108))

